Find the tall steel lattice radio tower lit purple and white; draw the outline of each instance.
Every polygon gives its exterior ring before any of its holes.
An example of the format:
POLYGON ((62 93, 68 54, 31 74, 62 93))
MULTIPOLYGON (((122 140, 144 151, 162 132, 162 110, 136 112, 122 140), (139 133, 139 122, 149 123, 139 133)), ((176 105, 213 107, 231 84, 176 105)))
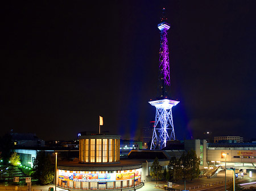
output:
POLYGON ((170 24, 167 23, 167 18, 164 16, 165 9, 163 8, 163 16, 158 28, 161 31, 160 52, 159 52, 159 88, 160 99, 149 101, 155 106, 155 125, 150 149, 162 149, 166 147, 166 142, 175 140, 174 122, 172 121, 172 107, 177 105, 179 101, 168 99, 167 89, 170 88, 170 64, 167 31, 170 24))

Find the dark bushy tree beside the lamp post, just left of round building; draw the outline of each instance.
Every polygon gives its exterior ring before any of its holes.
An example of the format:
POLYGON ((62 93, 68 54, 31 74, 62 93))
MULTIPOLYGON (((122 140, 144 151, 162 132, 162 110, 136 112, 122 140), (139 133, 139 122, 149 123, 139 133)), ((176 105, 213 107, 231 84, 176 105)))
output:
POLYGON ((51 164, 51 157, 46 152, 38 152, 33 163, 33 172, 31 174, 33 179, 38 179, 42 185, 50 184, 54 178, 54 169, 51 164))

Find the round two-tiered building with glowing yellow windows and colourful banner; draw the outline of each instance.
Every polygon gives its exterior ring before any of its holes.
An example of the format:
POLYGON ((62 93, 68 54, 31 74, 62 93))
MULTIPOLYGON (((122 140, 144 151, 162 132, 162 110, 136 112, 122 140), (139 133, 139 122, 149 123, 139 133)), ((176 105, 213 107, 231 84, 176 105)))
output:
POLYGON ((57 186, 78 190, 141 188, 142 164, 120 160, 119 156, 119 135, 82 135, 79 137, 79 161, 57 162, 57 186))

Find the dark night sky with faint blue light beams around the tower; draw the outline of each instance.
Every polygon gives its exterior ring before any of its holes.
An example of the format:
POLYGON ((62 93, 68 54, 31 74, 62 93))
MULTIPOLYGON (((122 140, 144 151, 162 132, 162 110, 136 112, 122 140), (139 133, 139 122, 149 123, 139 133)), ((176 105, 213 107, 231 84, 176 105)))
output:
POLYGON ((162 8, 177 139, 256 138, 256 1, 5 1, 1 135, 139 138, 155 118, 162 8))

